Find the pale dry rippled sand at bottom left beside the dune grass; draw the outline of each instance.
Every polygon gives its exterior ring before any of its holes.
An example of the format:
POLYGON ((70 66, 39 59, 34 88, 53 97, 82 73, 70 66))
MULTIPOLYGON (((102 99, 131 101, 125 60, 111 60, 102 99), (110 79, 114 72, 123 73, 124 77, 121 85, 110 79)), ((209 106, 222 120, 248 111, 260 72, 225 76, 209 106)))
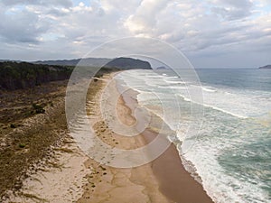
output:
POLYGON ((81 197, 91 172, 84 165, 88 157, 71 138, 65 138, 64 143, 53 149, 54 157, 44 161, 43 167, 24 180, 23 188, 6 202, 75 202, 81 197))

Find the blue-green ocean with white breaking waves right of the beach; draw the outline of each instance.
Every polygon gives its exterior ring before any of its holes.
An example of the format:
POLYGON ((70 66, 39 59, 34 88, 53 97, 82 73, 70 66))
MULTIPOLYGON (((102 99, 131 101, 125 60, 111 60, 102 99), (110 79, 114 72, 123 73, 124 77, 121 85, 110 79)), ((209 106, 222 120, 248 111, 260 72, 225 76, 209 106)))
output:
POLYGON ((210 198, 270 202, 271 70, 196 72, 201 86, 169 69, 126 70, 116 78, 176 133, 168 138, 210 198), (202 102, 191 97, 193 88, 201 89, 202 102))

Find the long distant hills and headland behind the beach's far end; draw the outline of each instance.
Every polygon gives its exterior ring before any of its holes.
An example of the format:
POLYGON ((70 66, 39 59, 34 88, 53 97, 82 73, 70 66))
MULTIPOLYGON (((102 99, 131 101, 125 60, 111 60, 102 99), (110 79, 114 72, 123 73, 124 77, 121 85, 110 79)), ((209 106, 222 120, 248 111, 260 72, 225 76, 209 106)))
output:
POLYGON ((38 60, 35 64, 59 65, 59 66, 93 66, 118 69, 152 69, 149 62, 145 60, 135 60, 132 58, 117 58, 114 60, 106 58, 88 58, 76 60, 38 60))

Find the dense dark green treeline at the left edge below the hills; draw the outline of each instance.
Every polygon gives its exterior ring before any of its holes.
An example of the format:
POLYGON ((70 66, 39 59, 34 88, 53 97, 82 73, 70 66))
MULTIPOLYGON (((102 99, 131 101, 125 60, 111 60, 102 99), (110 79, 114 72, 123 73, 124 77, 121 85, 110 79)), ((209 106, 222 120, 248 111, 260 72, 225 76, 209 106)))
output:
POLYGON ((42 83, 69 79, 72 69, 28 62, 0 62, 0 89, 33 88, 42 83))

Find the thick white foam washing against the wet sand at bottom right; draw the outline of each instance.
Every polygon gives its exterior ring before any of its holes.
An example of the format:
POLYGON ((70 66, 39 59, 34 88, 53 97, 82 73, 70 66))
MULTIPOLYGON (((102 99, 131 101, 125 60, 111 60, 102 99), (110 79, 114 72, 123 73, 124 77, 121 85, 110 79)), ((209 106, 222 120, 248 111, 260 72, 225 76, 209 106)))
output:
MULTIPOLYGON (((220 166, 218 156, 227 145, 230 147, 229 140, 221 142, 216 137, 211 137, 203 143, 196 143, 192 151, 182 156, 192 161, 193 169, 196 169, 192 172, 200 174, 203 188, 215 202, 265 202, 268 198, 266 191, 248 181, 228 175, 229 173, 220 166)), ((190 166, 186 169, 189 170, 190 166)))

